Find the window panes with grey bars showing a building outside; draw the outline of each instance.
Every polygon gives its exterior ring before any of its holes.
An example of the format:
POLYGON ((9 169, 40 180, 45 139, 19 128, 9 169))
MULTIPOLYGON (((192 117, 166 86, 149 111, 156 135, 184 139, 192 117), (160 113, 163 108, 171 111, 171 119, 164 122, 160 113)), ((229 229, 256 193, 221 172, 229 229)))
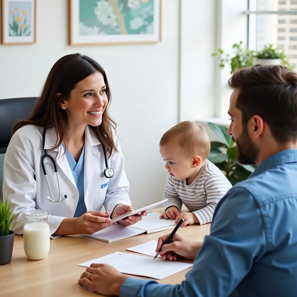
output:
POLYGON ((297 64, 297 0, 249 0, 247 17, 250 49, 272 43, 285 51, 292 66, 297 64))

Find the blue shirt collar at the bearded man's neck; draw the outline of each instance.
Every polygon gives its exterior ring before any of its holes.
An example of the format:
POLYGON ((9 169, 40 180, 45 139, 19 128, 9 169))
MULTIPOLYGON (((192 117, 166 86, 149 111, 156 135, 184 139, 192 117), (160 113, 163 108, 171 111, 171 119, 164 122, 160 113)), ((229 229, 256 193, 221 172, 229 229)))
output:
POLYGON ((287 149, 265 159, 249 176, 254 177, 281 164, 297 162, 297 149, 287 149))

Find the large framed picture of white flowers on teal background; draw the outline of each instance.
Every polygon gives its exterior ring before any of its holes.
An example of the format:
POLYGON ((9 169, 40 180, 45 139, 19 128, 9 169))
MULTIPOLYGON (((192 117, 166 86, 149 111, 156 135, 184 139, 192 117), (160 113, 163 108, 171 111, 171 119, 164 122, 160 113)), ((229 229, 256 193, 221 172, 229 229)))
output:
POLYGON ((69 0, 69 44, 161 41, 162 0, 69 0))

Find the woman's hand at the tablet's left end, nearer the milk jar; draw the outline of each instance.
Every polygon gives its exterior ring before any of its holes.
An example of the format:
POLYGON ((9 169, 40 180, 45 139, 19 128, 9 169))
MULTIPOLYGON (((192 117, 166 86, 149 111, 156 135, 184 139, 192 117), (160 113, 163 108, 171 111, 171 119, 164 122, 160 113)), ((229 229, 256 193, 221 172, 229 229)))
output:
POLYGON ((91 235, 108 226, 114 225, 110 223, 111 219, 108 217, 109 212, 102 211, 88 211, 76 218, 77 234, 91 235))

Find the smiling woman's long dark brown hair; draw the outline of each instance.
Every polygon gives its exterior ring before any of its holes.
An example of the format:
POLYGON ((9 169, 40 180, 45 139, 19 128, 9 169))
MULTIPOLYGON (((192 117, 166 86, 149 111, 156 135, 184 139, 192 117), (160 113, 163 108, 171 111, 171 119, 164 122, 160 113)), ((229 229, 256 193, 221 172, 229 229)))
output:
POLYGON ((53 65, 33 113, 27 120, 19 121, 13 132, 29 124, 38 127, 53 127, 57 133, 54 149, 58 148, 65 138, 65 131, 68 129, 67 115, 59 103, 70 97, 71 91, 78 82, 96 71, 103 75, 108 104, 102 114, 102 123, 97 127, 90 126, 90 128, 94 130, 97 138, 110 155, 113 151, 117 151, 113 141, 113 130, 116 129, 116 123, 108 114, 111 94, 105 71, 96 61, 79 53, 64 56, 53 65), (57 97, 57 93, 61 93, 61 96, 57 97))

